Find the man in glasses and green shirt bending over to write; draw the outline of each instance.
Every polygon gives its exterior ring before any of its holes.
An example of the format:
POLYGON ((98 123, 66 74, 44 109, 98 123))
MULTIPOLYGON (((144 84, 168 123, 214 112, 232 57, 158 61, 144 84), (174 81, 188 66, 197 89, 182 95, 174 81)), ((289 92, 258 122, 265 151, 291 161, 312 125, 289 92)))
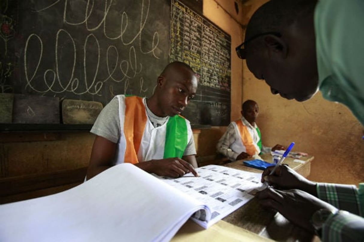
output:
MULTIPOLYGON (((302 102, 320 90, 364 125, 363 22, 363 0, 270 0, 253 14, 236 50, 273 94, 302 102)), ((364 241, 364 183, 309 181, 285 165, 271 171, 262 173, 272 185, 258 193, 262 205, 322 241, 364 241)))

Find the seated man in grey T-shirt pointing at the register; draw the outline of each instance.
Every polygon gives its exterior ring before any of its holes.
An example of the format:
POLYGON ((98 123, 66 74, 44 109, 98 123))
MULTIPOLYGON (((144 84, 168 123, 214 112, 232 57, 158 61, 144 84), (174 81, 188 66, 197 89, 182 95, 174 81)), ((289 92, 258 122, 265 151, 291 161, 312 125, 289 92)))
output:
POLYGON ((91 129, 96 138, 87 180, 124 162, 159 176, 198 176, 190 122, 179 115, 194 97, 197 82, 190 66, 172 62, 150 98, 114 97, 91 129))

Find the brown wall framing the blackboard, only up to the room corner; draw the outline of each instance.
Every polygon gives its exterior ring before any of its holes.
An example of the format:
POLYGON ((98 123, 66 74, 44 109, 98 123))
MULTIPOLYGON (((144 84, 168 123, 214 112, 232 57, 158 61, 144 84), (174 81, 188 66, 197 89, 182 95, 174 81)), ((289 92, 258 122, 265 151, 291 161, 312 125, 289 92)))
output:
MULTIPOLYGON (((230 3, 233 4, 233 1, 230 3)), ((239 4, 241 5, 241 3, 239 4)), ((234 120, 240 117, 243 74, 242 62, 234 53, 235 46, 242 42, 243 28, 236 21, 239 16, 230 15, 225 11, 224 8, 231 7, 231 4, 226 5, 224 1, 218 4, 214 0, 205 0, 203 5, 204 15, 231 36, 231 119, 234 120)), ((243 15, 240 13, 241 16, 243 15)), ((194 130, 199 158, 214 159, 215 145, 225 130, 226 127, 194 130)), ((50 183, 54 182, 51 181, 52 177, 61 175, 64 178, 68 171, 87 167, 93 141, 94 135, 88 131, 0 133, 0 188, 2 187, 1 184, 7 185, 13 181, 16 181, 14 183, 16 184, 15 191, 23 189, 17 186, 26 187, 24 189, 28 190, 36 189, 30 184, 33 181, 40 182, 40 185, 51 186, 50 183), (19 183, 19 181, 21 182, 19 183)), ((79 177, 80 174, 75 175, 79 177)), ((16 194, 2 201, 41 196, 58 192, 63 188, 65 187, 60 188, 59 186, 58 188, 44 189, 44 192, 34 191, 16 194)))

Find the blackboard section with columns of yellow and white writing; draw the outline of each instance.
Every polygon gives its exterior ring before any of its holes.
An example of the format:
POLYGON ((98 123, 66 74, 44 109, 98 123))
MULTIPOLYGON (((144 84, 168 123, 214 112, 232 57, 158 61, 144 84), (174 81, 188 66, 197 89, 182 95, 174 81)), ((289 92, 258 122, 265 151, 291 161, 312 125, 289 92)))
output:
POLYGON ((230 123, 231 38, 177 0, 171 4, 171 61, 183 61, 199 78, 197 95, 182 115, 192 124, 230 123))

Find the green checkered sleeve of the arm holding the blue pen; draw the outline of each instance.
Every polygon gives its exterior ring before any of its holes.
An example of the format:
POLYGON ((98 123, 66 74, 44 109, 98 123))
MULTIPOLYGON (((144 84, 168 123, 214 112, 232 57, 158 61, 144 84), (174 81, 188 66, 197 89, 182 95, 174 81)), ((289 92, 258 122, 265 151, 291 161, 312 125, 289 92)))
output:
POLYGON ((364 215, 364 183, 355 185, 317 184, 317 197, 340 210, 364 215))

